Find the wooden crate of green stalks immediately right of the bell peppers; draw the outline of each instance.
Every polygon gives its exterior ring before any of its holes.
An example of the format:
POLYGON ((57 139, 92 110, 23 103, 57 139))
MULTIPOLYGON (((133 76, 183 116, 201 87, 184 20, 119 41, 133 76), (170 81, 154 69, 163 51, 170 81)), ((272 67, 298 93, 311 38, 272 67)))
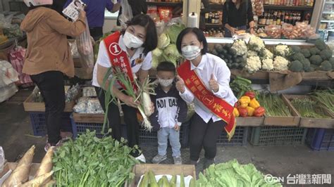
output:
POLYGON ((282 96, 282 99, 289 108, 292 116, 264 116, 264 125, 266 126, 281 126, 281 127, 297 127, 300 122, 300 115, 295 108, 292 107, 290 101, 282 96))

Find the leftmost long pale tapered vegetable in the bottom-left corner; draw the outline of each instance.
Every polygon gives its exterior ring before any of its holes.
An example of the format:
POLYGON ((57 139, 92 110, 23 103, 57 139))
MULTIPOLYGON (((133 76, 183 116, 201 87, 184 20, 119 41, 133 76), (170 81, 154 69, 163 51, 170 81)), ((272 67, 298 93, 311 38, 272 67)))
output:
POLYGON ((25 155, 18 162, 18 166, 14 169, 13 173, 4 181, 2 186, 18 186, 25 183, 29 179, 30 166, 32 163, 32 157, 35 154, 35 146, 32 146, 25 155))

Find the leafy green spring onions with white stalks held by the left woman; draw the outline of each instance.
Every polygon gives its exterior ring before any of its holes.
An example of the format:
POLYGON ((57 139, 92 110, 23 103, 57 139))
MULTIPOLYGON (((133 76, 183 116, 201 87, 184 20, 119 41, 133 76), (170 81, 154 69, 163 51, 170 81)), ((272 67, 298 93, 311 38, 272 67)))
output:
POLYGON ((140 114, 143 117, 143 126, 144 129, 151 131, 151 122, 149 122, 149 115, 151 115, 150 108, 151 108, 151 98, 149 97, 149 94, 154 94, 154 88, 153 84, 149 82, 149 77, 144 79, 144 82, 142 84, 139 84, 137 82, 137 79, 134 79, 134 83, 138 90, 135 90, 135 88, 132 86, 132 82, 130 80, 130 77, 128 77, 128 74, 122 72, 120 68, 109 68, 108 72, 104 76, 104 85, 107 82, 107 79, 109 76, 112 75, 111 81, 109 82, 109 85, 107 86, 106 89, 106 98, 105 98, 105 103, 106 103, 106 112, 104 114, 104 125, 102 127, 102 131, 104 131, 105 125, 108 121, 107 116, 108 116, 108 105, 111 102, 117 101, 117 98, 115 94, 113 93, 113 85, 118 82, 120 84, 123 84, 125 89, 123 91, 125 92, 126 95, 132 97, 134 101, 139 101, 138 105, 138 110, 140 111, 140 114))

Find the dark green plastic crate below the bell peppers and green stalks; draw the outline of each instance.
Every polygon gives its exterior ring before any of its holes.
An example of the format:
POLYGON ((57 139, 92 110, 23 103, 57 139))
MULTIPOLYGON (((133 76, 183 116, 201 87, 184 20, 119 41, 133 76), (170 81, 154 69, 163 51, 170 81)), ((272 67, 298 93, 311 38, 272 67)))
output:
POLYGON ((283 146, 303 144, 307 129, 300 127, 253 127, 250 143, 253 146, 283 146))

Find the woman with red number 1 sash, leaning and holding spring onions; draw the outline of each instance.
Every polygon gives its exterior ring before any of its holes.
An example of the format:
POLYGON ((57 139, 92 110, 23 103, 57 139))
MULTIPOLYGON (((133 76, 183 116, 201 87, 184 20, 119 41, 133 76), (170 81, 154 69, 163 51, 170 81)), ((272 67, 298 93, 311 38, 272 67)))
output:
MULTIPOLYGON (((110 67, 118 66, 120 70, 127 73, 130 79, 138 75, 140 81, 147 78, 151 69, 151 51, 156 48, 158 37, 156 27, 148 15, 136 15, 128 22, 128 27, 122 32, 115 32, 99 46, 97 63, 94 67, 93 86, 97 91, 99 101, 104 111, 104 76, 110 67)), ((122 85, 117 82, 113 85, 113 92, 125 105, 122 105, 124 120, 127 127, 128 146, 133 147, 139 143, 139 124, 137 121, 137 103, 132 97, 125 95, 120 89, 122 85)), ((115 103, 109 104, 109 125, 112 136, 120 140, 120 111, 115 103)), ((133 153, 137 160, 145 162, 145 157, 140 152, 133 153)))

